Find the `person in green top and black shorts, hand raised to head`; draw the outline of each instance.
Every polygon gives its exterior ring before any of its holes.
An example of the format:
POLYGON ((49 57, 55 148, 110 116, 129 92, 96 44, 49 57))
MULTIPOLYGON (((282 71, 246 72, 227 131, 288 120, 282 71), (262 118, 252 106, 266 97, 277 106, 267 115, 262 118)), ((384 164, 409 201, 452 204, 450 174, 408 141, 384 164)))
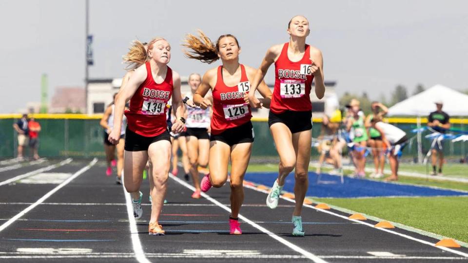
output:
POLYGON ((372 148, 372 156, 374 158, 375 166, 375 172, 370 174, 370 178, 381 178, 384 176, 385 166, 385 155, 383 152, 384 144, 382 142, 382 135, 379 131, 371 127, 370 121, 373 119, 382 121, 384 116, 389 112, 389 109, 377 101, 373 101, 370 108, 372 113, 366 118, 366 128, 368 128, 369 146, 372 148))

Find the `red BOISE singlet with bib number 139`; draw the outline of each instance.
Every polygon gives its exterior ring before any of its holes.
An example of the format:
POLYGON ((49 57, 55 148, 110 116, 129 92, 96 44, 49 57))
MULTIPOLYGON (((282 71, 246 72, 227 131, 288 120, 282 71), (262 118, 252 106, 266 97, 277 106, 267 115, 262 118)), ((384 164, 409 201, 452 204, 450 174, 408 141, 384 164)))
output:
POLYGON ((146 80, 130 99, 130 109, 125 112, 128 129, 141 136, 157 136, 167 129, 167 102, 174 89, 172 70, 167 67, 166 78, 157 84, 151 73, 150 62, 146 62, 146 80))

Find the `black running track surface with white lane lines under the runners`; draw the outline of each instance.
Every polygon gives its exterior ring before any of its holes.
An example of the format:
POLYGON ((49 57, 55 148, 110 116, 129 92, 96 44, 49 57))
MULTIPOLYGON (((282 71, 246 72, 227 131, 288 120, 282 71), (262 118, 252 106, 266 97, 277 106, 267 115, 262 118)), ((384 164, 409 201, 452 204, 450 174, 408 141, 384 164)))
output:
MULTIPOLYGON (((73 160, 46 172, 73 176, 90 162, 73 160)), ((57 163, 22 163, 0 172, 0 184, 28 172, 34 178, 35 170, 57 163)), ((183 179, 171 178, 160 221, 166 235, 150 236, 148 180, 141 188, 145 205, 134 233, 123 188, 114 176, 105 176, 105 163, 97 162, 39 200, 58 186, 0 185, 0 262, 468 262, 466 247, 443 250, 421 243, 434 244, 433 238, 398 228, 392 231, 408 237, 389 233, 339 217, 349 214, 336 210, 305 207, 306 235, 293 237, 293 204, 281 199, 272 210, 265 205, 266 194, 251 188, 245 188, 241 214, 256 227, 242 221, 243 234, 229 235, 229 212, 220 207, 229 207, 228 185, 207 192, 214 200, 195 200, 183 179), (35 203, 40 204, 18 216, 35 203)))

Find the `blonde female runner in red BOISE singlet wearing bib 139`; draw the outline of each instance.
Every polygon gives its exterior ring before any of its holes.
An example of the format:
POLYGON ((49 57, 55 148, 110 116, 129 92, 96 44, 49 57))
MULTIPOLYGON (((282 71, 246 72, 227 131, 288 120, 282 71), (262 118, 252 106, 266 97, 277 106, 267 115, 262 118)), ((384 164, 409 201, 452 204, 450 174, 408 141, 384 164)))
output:
MULTIPOLYGON (((128 126, 125 132, 124 185, 133 196, 134 216, 140 218, 142 193, 139 188, 149 158, 154 186, 148 232, 150 235, 164 235, 158 220, 166 194, 171 158, 166 105, 172 95, 176 116, 181 116, 180 76, 167 66, 171 59, 171 46, 164 38, 153 38, 148 43, 147 55, 149 61, 137 68, 117 95, 114 128, 109 134, 109 141, 114 144, 118 142, 124 106, 130 100, 130 110, 125 112, 128 126)), ((172 131, 182 131, 184 122, 183 118, 178 118, 172 131)))

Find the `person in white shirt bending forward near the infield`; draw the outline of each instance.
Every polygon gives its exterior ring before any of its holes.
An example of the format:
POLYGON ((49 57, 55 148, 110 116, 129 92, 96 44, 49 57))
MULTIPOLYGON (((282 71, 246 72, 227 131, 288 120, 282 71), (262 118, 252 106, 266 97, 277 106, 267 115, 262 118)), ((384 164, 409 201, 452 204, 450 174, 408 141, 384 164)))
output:
POLYGON ((380 132, 382 141, 388 147, 391 175, 385 178, 385 181, 398 181, 398 157, 408 141, 406 132, 376 118, 373 118, 370 123, 372 128, 380 132))

